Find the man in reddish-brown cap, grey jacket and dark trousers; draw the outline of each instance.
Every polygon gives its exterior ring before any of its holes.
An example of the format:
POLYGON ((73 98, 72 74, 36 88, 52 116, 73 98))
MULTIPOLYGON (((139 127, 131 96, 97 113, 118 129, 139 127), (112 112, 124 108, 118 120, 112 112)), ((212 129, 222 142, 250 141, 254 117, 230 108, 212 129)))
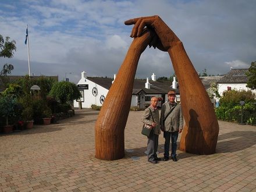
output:
POLYGON ((182 107, 175 102, 176 92, 168 92, 168 101, 162 105, 160 126, 163 131, 163 137, 165 138, 165 153, 163 154, 163 161, 169 160, 169 147, 170 140, 172 141, 172 153, 171 158, 173 161, 177 161, 177 138, 179 133, 182 133, 183 129, 183 115, 182 107))

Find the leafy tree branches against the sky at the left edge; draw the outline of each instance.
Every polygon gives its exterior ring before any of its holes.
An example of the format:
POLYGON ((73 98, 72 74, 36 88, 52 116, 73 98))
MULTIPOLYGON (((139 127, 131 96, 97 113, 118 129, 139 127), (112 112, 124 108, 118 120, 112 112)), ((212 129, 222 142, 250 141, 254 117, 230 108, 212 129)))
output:
MULTIPOLYGON (((3 40, 3 36, 0 35, 0 57, 3 58, 12 58, 14 51, 16 51, 16 42, 14 40, 9 41, 10 37, 5 37, 3 40)), ((3 69, 0 72, 0 76, 10 74, 13 70, 13 65, 6 63, 3 65, 3 69)))

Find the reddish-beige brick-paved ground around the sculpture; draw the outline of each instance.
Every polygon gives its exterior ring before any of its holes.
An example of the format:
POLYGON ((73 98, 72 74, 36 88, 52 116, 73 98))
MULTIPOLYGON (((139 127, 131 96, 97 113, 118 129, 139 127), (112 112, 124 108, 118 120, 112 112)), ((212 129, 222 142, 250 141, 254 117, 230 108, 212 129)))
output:
POLYGON ((94 157, 98 112, 90 109, 59 124, 0 134, 0 191, 256 191, 255 126, 219 121, 216 154, 178 150, 177 162, 152 164, 144 154, 142 114, 130 112, 125 148, 133 152, 117 161, 94 157))

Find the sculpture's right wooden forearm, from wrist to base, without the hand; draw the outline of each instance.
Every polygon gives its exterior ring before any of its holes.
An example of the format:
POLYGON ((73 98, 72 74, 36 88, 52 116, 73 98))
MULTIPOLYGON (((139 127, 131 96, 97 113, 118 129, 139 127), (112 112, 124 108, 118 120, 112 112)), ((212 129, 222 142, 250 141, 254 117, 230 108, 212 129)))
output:
POLYGON ((168 50, 180 85, 180 101, 186 125, 180 150, 191 154, 214 154, 219 125, 214 108, 189 56, 178 42, 168 50))

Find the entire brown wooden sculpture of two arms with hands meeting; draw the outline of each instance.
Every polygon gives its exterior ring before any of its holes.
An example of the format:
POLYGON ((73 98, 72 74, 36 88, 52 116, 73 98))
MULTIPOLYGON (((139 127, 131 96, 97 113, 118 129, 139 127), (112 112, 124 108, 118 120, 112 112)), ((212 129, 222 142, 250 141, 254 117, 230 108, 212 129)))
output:
POLYGON ((99 112, 95 124, 95 157, 115 160, 125 155, 124 130, 129 115, 134 77, 138 59, 148 44, 168 51, 179 79, 180 99, 186 123, 180 140, 180 150, 193 154, 213 154, 218 140, 218 121, 182 42, 158 16, 131 19, 126 24, 135 24, 131 32, 134 40, 99 112), (153 31, 144 30, 142 33, 145 26, 153 31), (155 33, 159 38, 158 42, 155 41, 155 33))

